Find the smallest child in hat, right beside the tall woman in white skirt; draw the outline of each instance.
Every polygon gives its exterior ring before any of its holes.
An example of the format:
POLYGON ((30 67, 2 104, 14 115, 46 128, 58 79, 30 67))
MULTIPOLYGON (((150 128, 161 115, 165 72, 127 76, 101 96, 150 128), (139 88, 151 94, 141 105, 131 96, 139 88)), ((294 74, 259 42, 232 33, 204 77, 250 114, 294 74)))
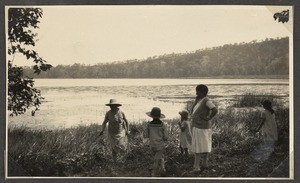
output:
POLYGON ((180 141, 180 152, 183 155, 188 155, 188 149, 191 146, 192 135, 190 131, 190 122, 188 121, 189 112, 187 110, 182 110, 179 112, 181 118, 180 122, 178 122, 180 133, 179 133, 179 141, 180 141))

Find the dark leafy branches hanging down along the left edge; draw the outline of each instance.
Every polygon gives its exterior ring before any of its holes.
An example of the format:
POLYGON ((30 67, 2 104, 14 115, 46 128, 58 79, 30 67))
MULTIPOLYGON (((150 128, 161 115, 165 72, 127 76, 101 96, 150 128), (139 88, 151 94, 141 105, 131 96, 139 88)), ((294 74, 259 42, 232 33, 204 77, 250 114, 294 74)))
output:
MULTIPOLYGON (((34 70, 36 74, 41 71, 47 71, 52 66, 46 64, 34 50, 28 49, 29 46, 35 46, 35 37, 37 34, 32 31, 39 28, 39 18, 43 15, 41 8, 9 8, 8 10, 8 41, 10 47, 8 54, 14 55, 17 52, 23 54, 27 60, 33 60, 36 65, 34 70)), ((40 90, 34 88, 32 78, 24 77, 22 67, 8 62, 8 110, 11 116, 23 114, 29 108, 32 109, 32 115, 39 110, 41 101, 40 90)))

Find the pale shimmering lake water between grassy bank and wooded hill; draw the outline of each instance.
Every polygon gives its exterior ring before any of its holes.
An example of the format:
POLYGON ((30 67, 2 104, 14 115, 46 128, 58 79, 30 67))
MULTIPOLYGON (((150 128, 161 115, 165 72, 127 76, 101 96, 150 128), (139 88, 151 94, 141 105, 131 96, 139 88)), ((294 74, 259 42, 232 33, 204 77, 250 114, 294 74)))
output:
POLYGON ((160 107, 167 119, 178 118, 187 101, 195 97, 195 87, 206 84, 209 96, 220 110, 245 93, 289 98, 288 79, 36 79, 45 101, 35 116, 30 112, 8 117, 9 126, 66 128, 91 123, 102 124, 109 99, 118 99, 129 122, 150 120, 145 115, 160 107))

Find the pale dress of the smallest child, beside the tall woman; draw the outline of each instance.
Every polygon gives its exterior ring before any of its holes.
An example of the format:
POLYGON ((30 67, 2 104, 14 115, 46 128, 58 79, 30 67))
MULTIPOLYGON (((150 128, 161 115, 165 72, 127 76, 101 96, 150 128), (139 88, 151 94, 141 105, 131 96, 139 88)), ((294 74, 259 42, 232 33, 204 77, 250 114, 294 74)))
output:
POLYGON ((179 133, 179 140, 180 140, 180 146, 182 148, 190 148, 191 147, 191 131, 190 131, 190 122, 187 120, 184 120, 180 123, 180 128, 184 128, 184 131, 180 130, 179 133))

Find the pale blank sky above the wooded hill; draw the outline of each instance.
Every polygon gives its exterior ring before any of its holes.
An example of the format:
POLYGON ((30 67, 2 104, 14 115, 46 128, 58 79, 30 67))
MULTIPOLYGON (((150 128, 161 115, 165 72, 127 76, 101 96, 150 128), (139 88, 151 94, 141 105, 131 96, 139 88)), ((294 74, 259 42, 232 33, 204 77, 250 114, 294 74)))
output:
MULTIPOLYGON (((41 6, 34 48, 48 63, 93 65, 292 36, 292 7, 41 6), (290 21, 273 19, 290 10, 290 21)), ((16 56, 17 65, 32 65, 16 56)))

